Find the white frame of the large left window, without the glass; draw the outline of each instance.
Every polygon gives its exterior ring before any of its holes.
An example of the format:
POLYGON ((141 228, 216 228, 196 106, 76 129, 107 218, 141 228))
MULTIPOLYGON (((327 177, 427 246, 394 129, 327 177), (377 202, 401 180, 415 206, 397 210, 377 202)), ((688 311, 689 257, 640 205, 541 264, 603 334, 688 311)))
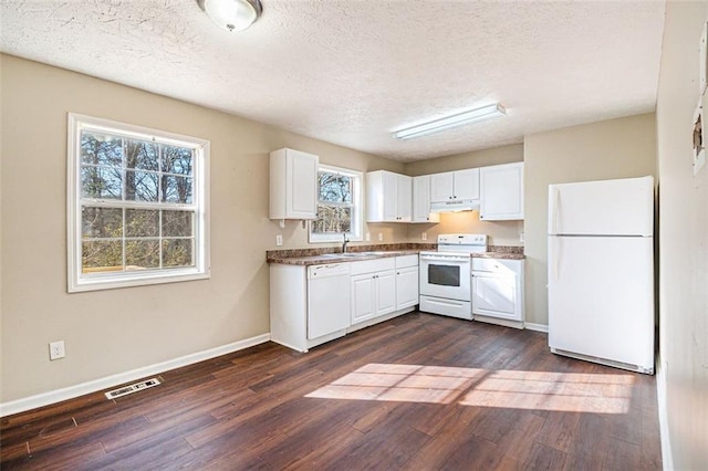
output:
MULTIPOLYGON (((209 182, 209 140, 75 113, 67 114, 66 134, 66 269, 69 293, 209 279, 211 275, 209 255, 209 191, 207 189, 209 182), (150 140, 164 145, 194 149, 191 176, 192 202, 189 206, 185 206, 162 201, 145 203, 128 201, 126 205, 126 201, 123 199, 117 201, 110 199, 84 199, 81 192, 81 133, 86 129, 105 133, 111 136, 150 140), (122 209, 160 208, 194 211, 194 266, 84 273, 82 263, 82 206, 86 202, 90 202, 92 207, 122 209)), ((124 185, 125 184, 122 185, 122 188, 124 185)), ((125 239, 125 236, 123 236, 123 239, 125 239)))

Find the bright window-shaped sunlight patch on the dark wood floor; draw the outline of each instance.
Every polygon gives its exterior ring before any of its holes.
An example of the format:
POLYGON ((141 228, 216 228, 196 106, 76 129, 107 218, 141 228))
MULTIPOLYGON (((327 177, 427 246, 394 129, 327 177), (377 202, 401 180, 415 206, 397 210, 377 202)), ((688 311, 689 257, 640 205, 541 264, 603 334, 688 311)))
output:
POLYGON ((626 414, 633 383, 629 374, 368 364, 305 397, 626 414))

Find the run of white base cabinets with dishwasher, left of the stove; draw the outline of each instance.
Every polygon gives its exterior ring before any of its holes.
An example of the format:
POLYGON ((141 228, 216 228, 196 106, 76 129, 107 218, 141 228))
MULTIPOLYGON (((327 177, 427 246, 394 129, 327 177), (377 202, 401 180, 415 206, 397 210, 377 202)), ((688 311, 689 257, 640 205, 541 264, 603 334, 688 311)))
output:
POLYGON ((418 255, 270 265, 270 336, 308 349, 415 310, 418 255))

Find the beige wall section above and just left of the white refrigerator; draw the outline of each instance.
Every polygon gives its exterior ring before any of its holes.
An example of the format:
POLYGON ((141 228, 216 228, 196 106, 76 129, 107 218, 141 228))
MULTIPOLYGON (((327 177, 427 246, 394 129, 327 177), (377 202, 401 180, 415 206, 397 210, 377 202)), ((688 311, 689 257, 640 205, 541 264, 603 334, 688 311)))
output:
POLYGON ((527 321, 548 325, 549 185, 655 175, 654 114, 527 136, 524 172, 527 321))

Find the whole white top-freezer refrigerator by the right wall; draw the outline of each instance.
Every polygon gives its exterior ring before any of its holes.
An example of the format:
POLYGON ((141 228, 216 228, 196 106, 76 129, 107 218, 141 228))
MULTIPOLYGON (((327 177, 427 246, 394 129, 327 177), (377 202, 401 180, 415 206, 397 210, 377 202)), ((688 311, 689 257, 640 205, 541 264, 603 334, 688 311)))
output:
POLYGON ((549 347, 654 374, 654 178, 549 186, 549 347))

